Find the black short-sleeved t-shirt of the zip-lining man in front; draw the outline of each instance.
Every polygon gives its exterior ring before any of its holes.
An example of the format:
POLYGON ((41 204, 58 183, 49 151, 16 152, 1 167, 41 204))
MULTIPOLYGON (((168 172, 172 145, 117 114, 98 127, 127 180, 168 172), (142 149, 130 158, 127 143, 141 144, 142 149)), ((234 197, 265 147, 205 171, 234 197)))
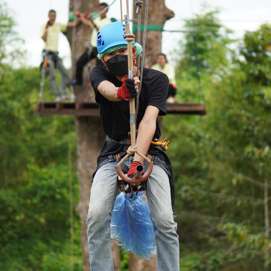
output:
MULTIPOLYGON (((119 81, 115 75, 107 71, 106 67, 98 66, 91 70, 89 80, 95 92, 95 101, 99 105, 100 115, 102 118, 102 125, 105 134, 115 141, 121 141, 128 138, 130 131, 130 108, 129 101, 121 100, 119 102, 109 101, 98 91, 98 86, 102 81, 109 81, 116 87, 120 87, 122 82, 119 81)), ((159 109, 160 116, 166 115, 166 97, 169 88, 168 77, 157 70, 143 69, 143 80, 141 86, 141 93, 139 97, 139 109, 137 116, 137 127, 140 124, 147 106, 152 105, 159 109)), ((161 131, 156 120, 156 130, 154 138, 160 138, 161 131)), ((123 151, 123 144, 111 143, 105 141, 100 156, 97 159, 97 164, 102 162, 109 155, 116 155, 123 151)), ((163 158, 163 151, 154 148, 150 145, 148 153, 151 156, 163 158)))

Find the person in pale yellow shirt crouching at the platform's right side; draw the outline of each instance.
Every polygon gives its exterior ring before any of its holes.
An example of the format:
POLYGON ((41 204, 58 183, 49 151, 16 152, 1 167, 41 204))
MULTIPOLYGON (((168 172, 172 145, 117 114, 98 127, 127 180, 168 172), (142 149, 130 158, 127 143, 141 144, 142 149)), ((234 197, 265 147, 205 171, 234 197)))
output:
POLYGON ((176 95, 175 69, 172 65, 167 63, 166 55, 163 53, 157 54, 156 62, 156 64, 151 66, 151 69, 159 70, 167 75, 169 78, 167 102, 174 103, 176 102, 176 100, 173 98, 176 95))

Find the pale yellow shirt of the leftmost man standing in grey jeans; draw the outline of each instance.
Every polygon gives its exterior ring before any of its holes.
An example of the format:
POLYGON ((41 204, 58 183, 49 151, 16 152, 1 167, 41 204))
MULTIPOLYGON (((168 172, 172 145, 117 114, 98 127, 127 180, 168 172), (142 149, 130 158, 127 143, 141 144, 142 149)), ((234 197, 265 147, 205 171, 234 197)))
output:
MULTIPOLYGON (((44 35, 45 27, 47 24, 41 26, 41 37, 44 35)), ((53 25, 49 25, 47 28, 47 39, 43 50, 56 52, 58 48, 58 37, 60 31, 66 31, 68 24, 60 24, 59 22, 54 22, 53 25)))

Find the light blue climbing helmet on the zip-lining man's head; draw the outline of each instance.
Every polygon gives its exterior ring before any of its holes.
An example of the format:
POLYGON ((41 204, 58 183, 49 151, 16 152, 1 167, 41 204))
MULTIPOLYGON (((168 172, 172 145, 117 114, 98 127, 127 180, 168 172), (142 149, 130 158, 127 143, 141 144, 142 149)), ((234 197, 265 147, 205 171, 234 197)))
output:
MULTIPOLYGON (((99 29, 96 38, 98 53, 101 54, 108 48, 120 44, 126 44, 127 47, 127 41, 123 37, 124 34, 126 34, 125 24, 122 22, 111 22, 102 26, 99 29)), ((135 42, 132 41, 132 44, 134 45, 135 42)))

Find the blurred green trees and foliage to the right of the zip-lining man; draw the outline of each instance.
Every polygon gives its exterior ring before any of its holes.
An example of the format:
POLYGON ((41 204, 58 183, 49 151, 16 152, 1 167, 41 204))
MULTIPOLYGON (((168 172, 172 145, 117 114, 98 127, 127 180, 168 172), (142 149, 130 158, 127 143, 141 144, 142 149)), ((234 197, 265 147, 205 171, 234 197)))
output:
POLYGON ((176 71, 178 98, 197 101, 197 50, 207 115, 164 118, 175 173, 180 270, 269 270, 264 209, 264 182, 271 184, 269 26, 246 33, 242 61, 229 57, 229 32, 222 34, 215 14, 187 21, 193 31, 186 34, 176 71))

